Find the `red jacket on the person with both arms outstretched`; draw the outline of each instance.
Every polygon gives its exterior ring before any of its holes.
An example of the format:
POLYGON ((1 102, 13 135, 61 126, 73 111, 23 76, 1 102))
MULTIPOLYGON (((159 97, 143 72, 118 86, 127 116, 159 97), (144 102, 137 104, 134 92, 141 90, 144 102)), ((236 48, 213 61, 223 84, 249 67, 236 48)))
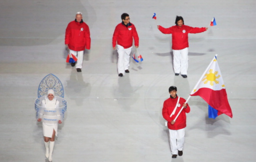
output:
POLYGON ((164 34, 172 34, 172 49, 182 50, 188 47, 188 33, 202 33, 206 31, 205 28, 193 28, 187 25, 172 26, 170 28, 163 28, 159 25, 159 30, 164 34))

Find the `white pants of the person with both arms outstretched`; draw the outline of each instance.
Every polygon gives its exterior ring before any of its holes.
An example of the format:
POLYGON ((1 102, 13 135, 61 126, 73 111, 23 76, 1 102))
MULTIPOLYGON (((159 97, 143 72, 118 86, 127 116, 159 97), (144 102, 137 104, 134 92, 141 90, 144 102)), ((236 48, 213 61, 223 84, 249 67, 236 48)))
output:
POLYGON ((173 68, 175 73, 188 74, 188 48, 173 51, 173 68))

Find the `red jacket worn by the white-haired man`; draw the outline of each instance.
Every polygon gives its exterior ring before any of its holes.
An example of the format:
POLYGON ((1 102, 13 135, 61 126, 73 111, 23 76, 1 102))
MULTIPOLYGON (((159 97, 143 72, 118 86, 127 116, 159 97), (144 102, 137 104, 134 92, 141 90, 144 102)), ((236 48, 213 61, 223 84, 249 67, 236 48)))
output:
POLYGON ((68 44, 68 48, 73 51, 84 51, 91 48, 91 38, 89 26, 81 21, 71 21, 65 34, 65 44, 68 44))

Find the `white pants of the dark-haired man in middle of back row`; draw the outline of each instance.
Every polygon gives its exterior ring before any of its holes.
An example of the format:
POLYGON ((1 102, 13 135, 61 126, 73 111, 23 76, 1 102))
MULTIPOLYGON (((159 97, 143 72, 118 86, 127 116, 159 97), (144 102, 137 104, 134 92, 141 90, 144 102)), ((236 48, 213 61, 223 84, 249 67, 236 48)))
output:
POLYGON ((129 68, 132 48, 132 46, 130 48, 123 48, 123 46, 118 45, 118 73, 125 75, 125 70, 129 68))

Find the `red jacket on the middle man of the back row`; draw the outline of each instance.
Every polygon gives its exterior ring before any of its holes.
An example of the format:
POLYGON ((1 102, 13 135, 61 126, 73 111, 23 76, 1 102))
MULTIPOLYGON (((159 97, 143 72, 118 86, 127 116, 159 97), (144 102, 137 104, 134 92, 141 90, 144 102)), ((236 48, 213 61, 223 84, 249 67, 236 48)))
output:
POLYGON ((138 46, 138 33, 135 26, 132 23, 129 23, 128 27, 126 27, 120 23, 115 27, 112 45, 115 47, 116 41, 118 41, 118 45, 123 46, 123 48, 130 48, 133 46, 133 39, 135 46, 138 46))

